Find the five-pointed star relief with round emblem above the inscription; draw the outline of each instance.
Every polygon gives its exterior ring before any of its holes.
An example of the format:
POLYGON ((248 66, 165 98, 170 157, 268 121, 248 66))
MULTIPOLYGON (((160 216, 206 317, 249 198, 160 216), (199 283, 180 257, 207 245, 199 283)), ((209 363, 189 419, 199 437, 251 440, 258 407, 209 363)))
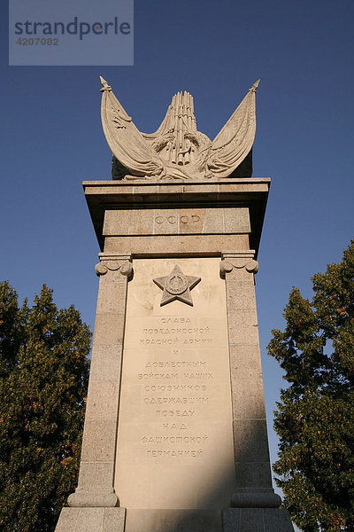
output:
POLYGON ((174 266, 170 275, 163 278, 152 279, 158 288, 164 291, 160 302, 160 307, 166 305, 170 301, 179 300, 183 303, 187 303, 193 307, 192 297, 190 290, 194 288, 201 278, 191 277, 190 275, 184 275, 179 266, 174 266))

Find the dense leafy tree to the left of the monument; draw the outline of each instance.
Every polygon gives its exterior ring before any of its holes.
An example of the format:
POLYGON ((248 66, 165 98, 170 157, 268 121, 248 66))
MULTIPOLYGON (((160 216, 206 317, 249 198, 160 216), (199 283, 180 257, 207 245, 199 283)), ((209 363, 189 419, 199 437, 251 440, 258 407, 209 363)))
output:
POLYGON ((0 283, 0 530, 54 530, 73 491, 89 378, 89 327, 42 287, 32 308, 0 283))

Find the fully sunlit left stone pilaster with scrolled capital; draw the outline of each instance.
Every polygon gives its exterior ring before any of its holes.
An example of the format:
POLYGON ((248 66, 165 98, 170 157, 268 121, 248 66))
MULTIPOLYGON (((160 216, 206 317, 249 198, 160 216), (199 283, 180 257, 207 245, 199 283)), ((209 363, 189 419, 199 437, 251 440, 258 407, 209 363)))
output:
MULTIPOLYGON (((75 493, 68 498, 71 507, 119 505, 119 499, 113 489, 113 472, 124 311, 127 279, 132 268, 127 254, 100 254, 100 258, 101 262, 96 266, 96 273, 100 277, 98 311, 79 485, 75 493)), ((89 528, 88 532, 91 532, 89 528)))

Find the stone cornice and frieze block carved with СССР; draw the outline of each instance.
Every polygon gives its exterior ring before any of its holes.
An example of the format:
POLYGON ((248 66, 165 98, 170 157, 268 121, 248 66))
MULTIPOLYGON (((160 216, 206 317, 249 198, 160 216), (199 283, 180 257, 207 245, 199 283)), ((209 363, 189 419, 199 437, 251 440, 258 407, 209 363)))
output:
MULTIPOLYGON (((131 234, 130 231, 134 231, 134 236, 154 236, 154 223, 151 220, 149 213, 158 213, 158 211, 163 209, 171 210, 174 215, 176 212, 181 212, 184 215, 186 211, 188 211, 189 214, 193 214, 198 211, 198 209, 201 209, 201 211, 206 213, 203 225, 204 233, 200 232, 200 234, 205 235, 204 239, 207 239, 207 236, 209 236, 212 231, 219 231, 221 228, 220 213, 224 209, 224 227, 225 221, 229 218, 228 212, 230 211, 230 213, 232 213, 232 223, 236 223, 238 229, 236 233, 229 234, 241 234, 240 231, 243 233, 242 228, 245 229, 246 224, 248 223, 243 215, 243 208, 247 208, 250 214, 250 243, 248 238, 246 238, 245 245, 237 243, 235 239, 232 241, 224 241, 224 239, 222 239, 224 244, 219 242, 219 246, 216 246, 216 253, 219 255, 223 249, 250 249, 250 246, 254 247, 257 251, 269 184, 270 179, 266 177, 209 180, 207 183, 202 183, 200 181, 186 183, 180 180, 173 180, 173 182, 159 181, 156 184, 148 184, 147 181, 140 180, 135 182, 134 186, 126 181, 90 181, 84 182, 83 186, 89 204, 89 212, 95 225, 96 236, 102 250, 104 249, 104 240, 112 239, 116 232, 119 233, 117 236, 122 236, 121 233, 124 232, 127 236, 131 237, 133 234, 131 234), (238 207, 240 204, 244 207, 238 207), (112 208, 112 206, 115 206, 115 208, 112 208), (188 208, 186 208, 187 206, 188 208), (120 228, 114 223, 115 219, 119 219, 119 211, 127 212, 127 217, 124 218, 123 216, 124 222, 120 228), (139 213, 137 213, 137 211, 139 211, 139 213), (115 214, 117 212, 118 214, 115 214), (135 212, 137 214, 134 214, 135 212), (218 216, 215 215, 216 212, 219 213, 218 216), (147 213, 147 215, 145 215, 145 213, 147 213), (240 220, 239 215, 242 216, 242 220, 240 220), (132 221, 131 217, 133 217, 134 220, 132 228, 130 229, 129 225, 132 221), (142 223, 145 222, 145 218, 146 226, 143 228, 142 223), (104 219, 106 220, 105 223, 104 219), (214 224, 215 229, 213 229, 214 224), (104 237, 105 231, 110 234, 107 234, 104 237)), ((161 220, 159 219, 158 222, 161 222, 161 220)), ((193 230, 193 227, 198 223, 200 223, 200 221, 196 222, 192 220, 189 220, 186 223, 186 218, 183 218, 181 225, 187 226, 187 228, 183 230, 183 234, 190 234, 189 231, 195 231, 193 230)), ((158 223, 155 225, 158 225, 158 223)), ((227 231, 232 231, 228 222, 226 225, 227 231)), ((224 231, 219 231, 215 234, 223 233, 224 231)), ((246 233, 244 233, 244 236, 246 236, 246 233)), ((178 240, 176 242, 182 244, 183 240, 178 240)), ((156 250, 154 250, 153 247, 148 249, 148 242, 144 242, 143 240, 141 241, 142 246, 139 248, 136 239, 134 243, 135 248, 133 250, 133 248, 130 247, 132 243, 134 242, 130 239, 129 241, 127 241, 127 239, 120 239, 120 246, 112 247, 111 245, 107 246, 106 242, 105 249, 106 251, 114 249, 119 251, 120 254, 135 253, 139 254, 139 256, 143 256, 143 254, 147 252, 165 256, 166 249, 169 250, 169 246, 173 245, 173 239, 169 242, 165 242, 165 248, 161 247, 156 250)), ((200 248, 196 247, 196 249, 198 249, 198 252, 201 252, 200 248)), ((189 246, 187 251, 193 251, 192 247, 189 246)), ((180 246, 179 248, 178 246, 175 246, 173 252, 183 253, 183 247, 180 246)), ((212 249, 209 246, 204 249, 204 252, 215 253, 215 248, 212 249)))

